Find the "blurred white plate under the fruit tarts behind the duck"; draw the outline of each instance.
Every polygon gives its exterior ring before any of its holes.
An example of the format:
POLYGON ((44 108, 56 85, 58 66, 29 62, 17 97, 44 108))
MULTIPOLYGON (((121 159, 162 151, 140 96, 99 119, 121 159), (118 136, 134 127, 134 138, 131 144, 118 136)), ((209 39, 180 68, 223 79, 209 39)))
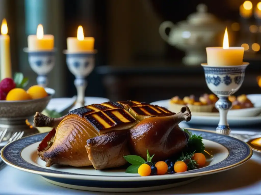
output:
MULTIPOLYGON (((250 94, 247 98, 254 104, 254 108, 229 110, 228 123, 233 126, 256 125, 261 124, 261 94, 250 94), (253 116, 259 114, 258 116, 253 116), (247 116, 246 116, 247 115, 247 116)), ((161 100, 152 102, 153 105, 162 106, 168 109, 169 100, 161 100)), ((213 125, 218 124, 219 113, 191 113, 191 120, 187 123, 197 125, 213 125)))

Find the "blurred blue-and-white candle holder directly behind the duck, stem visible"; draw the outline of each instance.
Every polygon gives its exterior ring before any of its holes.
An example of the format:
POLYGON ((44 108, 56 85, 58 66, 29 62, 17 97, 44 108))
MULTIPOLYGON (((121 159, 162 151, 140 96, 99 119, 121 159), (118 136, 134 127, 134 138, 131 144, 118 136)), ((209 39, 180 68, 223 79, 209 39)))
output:
POLYGON ((77 100, 72 109, 80 108, 85 105, 86 78, 94 69, 96 53, 97 50, 81 53, 70 53, 68 50, 64 51, 68 69, 75 76, 74 85, 77 90, 77 100))

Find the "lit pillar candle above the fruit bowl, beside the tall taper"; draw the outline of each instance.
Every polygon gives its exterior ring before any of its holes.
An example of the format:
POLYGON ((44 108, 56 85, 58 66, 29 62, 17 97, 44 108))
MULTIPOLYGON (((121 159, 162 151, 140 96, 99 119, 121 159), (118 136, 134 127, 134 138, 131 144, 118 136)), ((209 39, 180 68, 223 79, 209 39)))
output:
POLYGON ((54 49, 54 35, 44 35, 43 25, 39 24, 36 35, 29 35, 28 51, 47 51, 54 49))

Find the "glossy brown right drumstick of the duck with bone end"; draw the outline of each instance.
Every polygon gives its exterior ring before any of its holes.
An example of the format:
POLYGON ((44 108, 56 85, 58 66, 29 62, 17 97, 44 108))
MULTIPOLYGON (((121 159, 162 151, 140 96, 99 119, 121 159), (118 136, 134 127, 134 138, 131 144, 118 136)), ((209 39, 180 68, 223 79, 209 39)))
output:
POLYGON ((146 159, 146 151, 155 154, 153 160, 163 160, 180 152, 187 144, 187 136, 178 124, 191 119, 188 107, 164 117, 146 118, 130 129, 131 153, 146 159))

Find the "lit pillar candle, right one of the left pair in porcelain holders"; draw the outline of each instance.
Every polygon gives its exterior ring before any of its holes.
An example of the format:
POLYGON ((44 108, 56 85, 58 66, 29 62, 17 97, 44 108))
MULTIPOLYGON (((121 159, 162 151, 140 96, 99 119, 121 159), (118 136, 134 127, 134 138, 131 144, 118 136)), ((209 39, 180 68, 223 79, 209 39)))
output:
POLYGON ((78 27, 77 37, 67 38, 67 52, 68 53, 78 53, 78 52, 88 52, 94 49, 94 38, 84 37, 82 26, 78 27))

